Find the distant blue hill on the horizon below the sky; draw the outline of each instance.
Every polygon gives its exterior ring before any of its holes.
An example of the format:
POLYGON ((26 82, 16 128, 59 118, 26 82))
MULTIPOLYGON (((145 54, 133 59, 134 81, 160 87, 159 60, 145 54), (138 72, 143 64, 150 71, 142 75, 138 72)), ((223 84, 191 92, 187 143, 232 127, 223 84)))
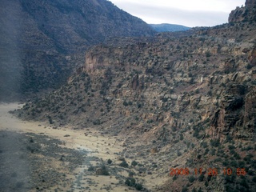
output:
POLYGON ((150 26, 152 26, 153 29, 158 32, 174 32, 174 31, 182 31, 182 30, 190 29, 190 27, 187 27, 187 26, 174 25, 174 24, 168 24, 168 23, 150 24, 150 26))

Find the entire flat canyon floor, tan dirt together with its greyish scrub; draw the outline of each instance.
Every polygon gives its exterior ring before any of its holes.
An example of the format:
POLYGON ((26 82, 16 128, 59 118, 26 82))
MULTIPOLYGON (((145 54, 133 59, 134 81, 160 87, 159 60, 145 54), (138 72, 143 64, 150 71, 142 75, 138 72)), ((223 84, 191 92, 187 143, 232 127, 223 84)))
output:
POLYGON ((130 172, 144 190, 155 191, 167 178, 155 177, 158 169, 143 174, 138 166, 130 166, 134 157, 125 157, 123 138, 90 127, 22 121, 9 113, 21 107, 0 105, 0 191, 133 191, 125 184, 130 172), (129 167, 119 166, 123 158, 129 167), (103 165, 108 175, 96 174, 103 165))

